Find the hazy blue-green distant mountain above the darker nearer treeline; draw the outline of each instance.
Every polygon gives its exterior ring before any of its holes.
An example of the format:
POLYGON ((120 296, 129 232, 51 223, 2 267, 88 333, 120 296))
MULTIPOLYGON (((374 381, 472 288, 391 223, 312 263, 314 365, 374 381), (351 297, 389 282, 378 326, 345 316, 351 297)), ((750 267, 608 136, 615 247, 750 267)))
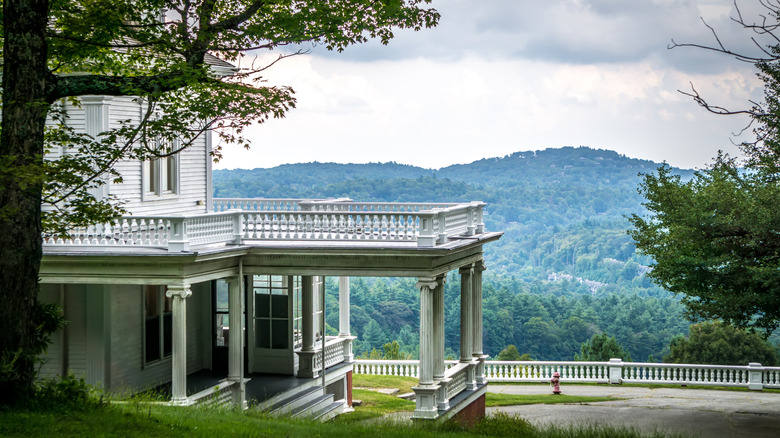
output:
POLYGON ((525 281, 563 274, 604 287, 636 280, 631 289, 657 293, 642 275, 649 260, 635 253, 625 217, 643 211, 639 174, 659 165, 609 150, 565 147, 439 170, 397 163, 216 170, 214 191, 216 197, 481 200, 488 203, 488 229, 505 233, 487 249, 494 273, 525 281))

